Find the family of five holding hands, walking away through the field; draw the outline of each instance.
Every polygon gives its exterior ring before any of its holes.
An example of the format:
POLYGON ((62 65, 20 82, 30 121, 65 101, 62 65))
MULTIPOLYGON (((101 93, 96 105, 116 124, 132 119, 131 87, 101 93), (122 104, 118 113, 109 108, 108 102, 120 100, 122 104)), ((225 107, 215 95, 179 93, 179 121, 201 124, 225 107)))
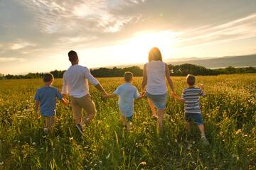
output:
POLYGON ((203 145, 208 145, 208 140, 204 132, 204 125, 199 108, 199 96, 205 96, 203 86, 195 87, 196 78, 193 75, 186 77, 188 88, 183 90, 181 98, 178 98, 174 91, 174 84, 169 74, 169 67, 163 62, 161 52, 157 47, 151 48, 149 51, 149 62, 144 64, 142 92, 135 86, 132 86, 133 74, 131 72, 124 73, 124 84, 118 86, 113 94, 108 95, 105 89, 100 85, 100 82, 90 74, 87 67, 79 65, 78 54, 75 51, 68 52, 68 58, 71 62, 69 69, 63 74, 62 92, 52 87, 53 75, 47 73, 43 77, 44 86, 36 91, 36 116, 38 116, 38 107, 40 104, 40 113, 46 118, 45 132, 52 130, 55 125, 55 106, 56 98, 65 106, 68 106, 69 101, 66 96, 70 95, 71 105, 73 108, 73 118, 75 119, 75 127, 83 135, 82 125, 88 123, 96 115, 95 103, 92 101, 92 96, 89 94, 88 82, 95 86, 96 89, 102 92, 103 98, 114 98, 119 96, 119 111, 122 116, 122 124, 127 131, 131 130, 132 115, 134 114, 134 100, 139 101, 146 96, 151 108, 152 117, 157 118, 160 128, 163 127, 163 116, 167 102, 167 84, 171 88, 171 96, 176 100, 185 103, 186 128, 190 130, 192 119, 198 125, 201 131, 201 141, 203 145), (146 87, 146 91, 145 91, 146 87), (155 111, 155 107, 157 111, 155 111), (85 118, 82 118, 82 109, 85 110, 85 118))

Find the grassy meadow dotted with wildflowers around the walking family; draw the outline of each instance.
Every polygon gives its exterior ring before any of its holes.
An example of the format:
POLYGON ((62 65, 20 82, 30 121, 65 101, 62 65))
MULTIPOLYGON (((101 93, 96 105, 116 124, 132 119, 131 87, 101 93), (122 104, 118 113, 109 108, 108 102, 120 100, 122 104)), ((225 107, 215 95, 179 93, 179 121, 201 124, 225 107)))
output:
MULTIPOLYGON (((176 94, 186 88, 185 77, 172 77, 176 94)), ((98 79, 107 93, 122 78, 98 79)), ((72 108, 58 102, 56 130, 44 135, 43 117, 36 118, 33 97, 41 79, 0 81, 0 169, 256 169, 256 74, 197 77, 206 97, 201 111, 210 142, 203 147, 193 125, 186 132, 183 104, 168 92, 164 128, 146 98, 135 101, 133 129, 122 129, 117 99, 102 99, 90 85, 97 115, 79 137, 72 108)), ((141 89, 142 77, 134 78, 141 89)), ((53 86, 61 91, 62 79, 53 86)), ((69 96, 68 96, 69 99, 69 96)))

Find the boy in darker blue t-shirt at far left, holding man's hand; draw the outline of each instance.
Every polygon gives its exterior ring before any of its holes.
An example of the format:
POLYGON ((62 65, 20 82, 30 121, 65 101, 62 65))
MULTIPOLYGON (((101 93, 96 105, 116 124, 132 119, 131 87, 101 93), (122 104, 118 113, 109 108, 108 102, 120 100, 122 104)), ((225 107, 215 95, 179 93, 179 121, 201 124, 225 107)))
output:
POLYGON ((43 130, 48 133, 48 130, 53 129, 55 125, 56 97, 65 106, 68 106, 69 101, 63 98, 58 89, 51 86, 53 84, 53 74, 44 74, 43 82, 44 86, 36 91, 34 100, 36 100, 36 117, 38 117, 38 106, 40 103, 40 113, 46 118, 46 128, 43 130))

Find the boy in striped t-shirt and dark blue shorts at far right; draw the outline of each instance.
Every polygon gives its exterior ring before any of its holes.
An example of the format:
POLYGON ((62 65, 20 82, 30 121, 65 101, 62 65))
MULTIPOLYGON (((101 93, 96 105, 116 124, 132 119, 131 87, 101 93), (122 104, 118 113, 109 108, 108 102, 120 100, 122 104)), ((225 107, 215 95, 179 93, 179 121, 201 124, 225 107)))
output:
POLYGON ((206 135, 204 132, 203 120, 201 115, 201 110, 199 108, 199 96, 203 97, 206 94, 203 91, 203 86, 201 88, 195 87, 196 77, 191 74, 188 74, 186 77, 186 84, 188 84, 188 88, 183 90, 181 98, 178 96, 172 95, 178 101, 185 103, 185 117, 186 120, 186 128, 190 131, 190 123, 192 118, 194 122, 198 125, 198 128, 201 132, 201 140, 203 145, 208 145, 209 142, 206 139, 206 135))

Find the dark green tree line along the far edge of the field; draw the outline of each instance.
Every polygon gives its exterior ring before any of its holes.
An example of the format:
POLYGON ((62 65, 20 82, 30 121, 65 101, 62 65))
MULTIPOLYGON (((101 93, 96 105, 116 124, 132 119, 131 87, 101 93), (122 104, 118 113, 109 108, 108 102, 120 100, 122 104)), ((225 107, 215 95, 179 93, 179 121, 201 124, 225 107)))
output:
MULTIPOLYGON (((168 65, 171 76, 186 76, 188 74, 193 74, 195 76, 210 76, 219 74, 245 74, 245 73, 256 73, 256 67, 226 67, 220 69, 207 69, 203 66, 198 66, 195 64, 181 64, 181 65, 168 65)), ((66 70, 54 70, 50 73, 53 74, 55 78, 63 78, 63 74, 66 70)), ((132 72, 134 77, 142 77, 143 69, 137 66, 117 68, 112 69, 101 67, 99 69, 90 69, 92 76, 94 77, 123 77, 124 72, 132 72)), ((28 73, 26 75, 11 75, 11 74, 0 74, 0 79, 37 79, 43 78, 44 73, 28 73)))

